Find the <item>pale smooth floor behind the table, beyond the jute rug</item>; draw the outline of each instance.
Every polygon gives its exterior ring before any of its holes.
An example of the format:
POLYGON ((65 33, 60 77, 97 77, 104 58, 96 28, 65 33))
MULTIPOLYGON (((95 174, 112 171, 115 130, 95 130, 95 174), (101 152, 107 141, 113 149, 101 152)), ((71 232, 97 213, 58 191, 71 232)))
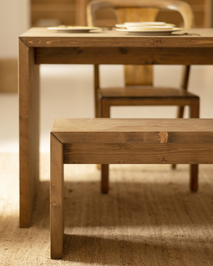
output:
MULTIPOLYGON (((93 66, 42 65, 40 152, 50 152, 55 117, 94 117, 93 66)), ((189 91, 200 96, 200 117, 212 118, 213 66, 192 66, 189 91)), ((180 66, 155 66, 155 85, 179 84, 180 66)), ((123 85, 122 66, 101 66, 101 86, 123 85)), ((112 117, 175 117, 176 107, 113 107, 112 117)), ((187 117, 187 109, 184 114, 187 117)), ((0 153, 18 152, 18 93, 0 93, 0 153)))

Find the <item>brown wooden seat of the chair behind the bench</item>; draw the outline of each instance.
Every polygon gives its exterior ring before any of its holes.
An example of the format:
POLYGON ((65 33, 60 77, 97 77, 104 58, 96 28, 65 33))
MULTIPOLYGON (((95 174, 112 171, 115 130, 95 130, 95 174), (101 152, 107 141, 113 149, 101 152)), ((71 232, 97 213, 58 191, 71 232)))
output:
POLYGON ((152 86, 128 86, 127 88, 105 88, 98 90, 99 98, 199 98, 183 89, 152 86))

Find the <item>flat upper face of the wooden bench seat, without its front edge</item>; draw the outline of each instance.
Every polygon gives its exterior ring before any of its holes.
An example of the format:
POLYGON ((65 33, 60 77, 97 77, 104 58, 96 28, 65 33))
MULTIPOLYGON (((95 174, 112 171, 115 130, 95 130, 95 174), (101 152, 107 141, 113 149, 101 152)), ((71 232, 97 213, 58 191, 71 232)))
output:
POLYGON ((56 118, 51 132, 213 132, 213 119, 56 118))

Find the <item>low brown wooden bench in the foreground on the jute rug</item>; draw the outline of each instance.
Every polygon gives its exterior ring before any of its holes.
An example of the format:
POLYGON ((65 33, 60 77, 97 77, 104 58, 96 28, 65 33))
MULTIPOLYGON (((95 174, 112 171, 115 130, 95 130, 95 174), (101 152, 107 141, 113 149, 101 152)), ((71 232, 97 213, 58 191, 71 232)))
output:
POLYGON ((63 250, 63 164, 213 163, 213 119, 55 119, 50 135, 52 259, 63 250))

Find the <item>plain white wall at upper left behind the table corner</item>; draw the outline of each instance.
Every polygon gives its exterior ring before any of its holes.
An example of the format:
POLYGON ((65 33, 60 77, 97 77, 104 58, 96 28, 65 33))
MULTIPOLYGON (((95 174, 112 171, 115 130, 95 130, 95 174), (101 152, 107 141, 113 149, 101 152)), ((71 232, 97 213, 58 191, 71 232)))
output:
POLYGON ((2 0, 0 58, 18 57, 18 36, 30 27, 29 0, 2 0))

